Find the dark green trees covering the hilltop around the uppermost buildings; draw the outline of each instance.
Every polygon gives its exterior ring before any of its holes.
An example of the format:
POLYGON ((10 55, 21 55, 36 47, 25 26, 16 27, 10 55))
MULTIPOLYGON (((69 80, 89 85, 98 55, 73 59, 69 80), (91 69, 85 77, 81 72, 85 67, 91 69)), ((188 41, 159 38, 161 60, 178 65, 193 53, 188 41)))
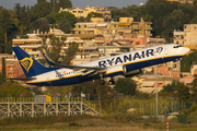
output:
MULTIPOLYGON (((37 4, 30 7, 15 3, 13 10, 7 10, 0 7, 0 52, 11 53, 11 40, 15 35, 24 35, 36 31, 47 32, 49 26, 58 27, 65 33, 70 33, 74 23, 80 21, 90 21, 91 16, 103 17, 100 13, 90 13, 86 17, 77 19, 69 12, 58 13, 59 8, 71 8, 70 0, 38 0, 37 4)), ((197 23, 197 0, 194 4, 181 4, 179 2, 169 2, 166 0, 148 0, 144 5, 127 5, 118 9, 108 7, 114 21, 119 21, 119 17, 134 17, 135 22, 139 22, 141 17, 146 22, 152 22, 153 37, 161 36, 172 41, 173 31, 183 31, 184 24, 197 23), (162 25, 162 26, 161 26, 162 25)), ((108 21, 108 20, 106 20, 108 21)), ((184 59, 184 58, 183 58, 184 59)), ((187 59, 189 60, 189 59, 187 59)), ((186 64, 184 62, 183 64, 186 64)), ((190 62, 189 62, 190 64, 190 62)), ((186 71, 187 66, 183 66, 183 71, 186 71)))

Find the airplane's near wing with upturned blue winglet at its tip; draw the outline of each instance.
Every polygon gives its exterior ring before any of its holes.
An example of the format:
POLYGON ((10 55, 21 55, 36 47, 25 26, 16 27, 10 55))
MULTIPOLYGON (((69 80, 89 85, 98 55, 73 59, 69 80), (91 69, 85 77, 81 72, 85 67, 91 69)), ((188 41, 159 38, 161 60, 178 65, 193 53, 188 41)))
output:
POLYGON ((96 72, 105 72, 107 69, 107 68, 94 68, 94 67, 82 67, 82 66, 70 66, 70 64, 56 63, 47 55, 43 53, 43 56, 50 66, 73 69, 76 71, 81 71, 81 72, 86 72, 86 73, 88 72, 95 73, 95 71, 96 72))

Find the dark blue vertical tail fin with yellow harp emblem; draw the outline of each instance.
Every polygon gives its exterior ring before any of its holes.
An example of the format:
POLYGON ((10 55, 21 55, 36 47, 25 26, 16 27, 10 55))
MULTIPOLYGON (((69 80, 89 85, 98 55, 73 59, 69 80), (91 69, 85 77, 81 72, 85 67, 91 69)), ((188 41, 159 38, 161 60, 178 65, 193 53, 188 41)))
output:
POLYGON ((24 51, 21 47, 12 47, 18 60, 26 75, 26 78, 31 78, 37 74, 45 73, 49 71, 48 68, 45 68, 37 60, 35 60, 32 56, 30 56, 26 51, 24 51))

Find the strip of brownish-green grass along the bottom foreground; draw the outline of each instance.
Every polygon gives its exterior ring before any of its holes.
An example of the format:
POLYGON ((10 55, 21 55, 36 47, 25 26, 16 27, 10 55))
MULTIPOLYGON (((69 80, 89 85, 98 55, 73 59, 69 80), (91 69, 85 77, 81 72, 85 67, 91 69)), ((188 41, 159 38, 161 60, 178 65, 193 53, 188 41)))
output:
MULTIPOLYGON (((170 120, 170 129, 174 131, 197 131, 196 123, 181 124, 170 120)), ((15 117, 0 121, 0 130, 28 131, 164 131, 166 123, 154 117, 141 119, 138 114, 116 114, 105 117, 96 116, 40 116, 15 117)))

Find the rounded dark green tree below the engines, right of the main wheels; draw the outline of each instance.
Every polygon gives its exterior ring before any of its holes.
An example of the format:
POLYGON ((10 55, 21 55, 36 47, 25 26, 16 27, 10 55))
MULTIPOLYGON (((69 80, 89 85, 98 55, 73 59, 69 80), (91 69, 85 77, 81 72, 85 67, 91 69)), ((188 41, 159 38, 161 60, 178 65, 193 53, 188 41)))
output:
POLYGON ((135 95, 136 93, 136 83, 132 81, 130 78, 125 78, 125 79, 118 79, 116 82, 114 88, 118 93, 123 93, 124 95, 135 95))

